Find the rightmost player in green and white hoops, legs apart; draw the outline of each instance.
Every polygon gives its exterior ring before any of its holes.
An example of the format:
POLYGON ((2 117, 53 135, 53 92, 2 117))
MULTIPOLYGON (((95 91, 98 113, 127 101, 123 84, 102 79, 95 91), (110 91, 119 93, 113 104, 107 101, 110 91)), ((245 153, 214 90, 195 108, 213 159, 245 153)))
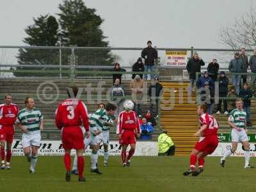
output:
POLYGON ((228 117, 228 125, 232 127, 231 138, 232 138, 232 148, 227 150, 223 157, 220 159, 220 164, 222 167, 225 166, 225 159, 234 153, 237 149, 237 143, 241 142, 244 147, 244 158, 245 165, 244 168, 254 168, 250 165, 250 144, 247 136, 246 129, 246 112, 243 109, 243 100, 236 100, 236 109, 231 111, 228 117))

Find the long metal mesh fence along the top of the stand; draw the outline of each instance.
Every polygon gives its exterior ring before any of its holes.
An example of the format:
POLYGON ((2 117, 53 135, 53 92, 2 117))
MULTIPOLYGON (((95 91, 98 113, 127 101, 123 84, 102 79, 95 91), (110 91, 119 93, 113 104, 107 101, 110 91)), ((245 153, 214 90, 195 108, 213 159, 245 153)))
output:
MULTIPOLYGON (((158 52, 156 66, 169 68, 166 63, 166 51, 187 51, 188 58, 198 52, 206 66, 212 58, 217 58, 221 68, 227 68, 227 63, 233 54, 239 50, 233 49, 198 49, 155 47, 158 52)), ((107 71, 118 61, 122 68, 131 71, 132 65, 141 56, 143 47, 31 47, 31 46, 0 46, 0 77, 70 77, 73 72, 90 76, 90 71, 107 71), (24 72, 27 70, 27 73, 24 72), (38 72, 39 70, 39 72, 38 72), (42 72, 44 70, 44 72, 42 72), (47 72, 49 71, 49 72, 47 72), (44 74, 44 75, 43 75, 44 74)), ((248 50, 252 54, 252 50, 248 50)), ((181 69, 184 67, 181 67, 181 69)), ((203 67, 204 69, 205 67, 203 67)), ((177 69, 177 67, 173 68, 177 69)), ((75 77, 75 74, 73 74, 75 77)), ((104 74, 104 77, 111 76, 104 74)))

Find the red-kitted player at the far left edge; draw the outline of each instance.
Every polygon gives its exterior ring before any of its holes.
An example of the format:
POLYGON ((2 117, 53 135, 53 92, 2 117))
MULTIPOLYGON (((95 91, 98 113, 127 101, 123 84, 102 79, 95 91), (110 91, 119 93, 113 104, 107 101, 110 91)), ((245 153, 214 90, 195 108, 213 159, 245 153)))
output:
POLYGON ((10 169, 10 161, 12 156, 12 141, 15 131, 15 120, 19 108, 12 103, 12 95, 6 94, 4 104, 0 105, 0 141, 1 141, 1 169, 10 169), (6 143, 6 163, 5 159, 5 143, 6 143))

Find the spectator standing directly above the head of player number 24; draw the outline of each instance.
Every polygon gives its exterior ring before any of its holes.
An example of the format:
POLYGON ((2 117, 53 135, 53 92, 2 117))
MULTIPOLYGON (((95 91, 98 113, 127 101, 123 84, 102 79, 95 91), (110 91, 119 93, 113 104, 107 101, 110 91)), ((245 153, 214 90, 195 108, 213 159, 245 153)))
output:
POLYGON ((207 103, 207 113, 212 115, 214 107, 214 88, 212 88, 208 81, 204 83, 204 89, 200 91, 200 99, 202 104, 207 103))

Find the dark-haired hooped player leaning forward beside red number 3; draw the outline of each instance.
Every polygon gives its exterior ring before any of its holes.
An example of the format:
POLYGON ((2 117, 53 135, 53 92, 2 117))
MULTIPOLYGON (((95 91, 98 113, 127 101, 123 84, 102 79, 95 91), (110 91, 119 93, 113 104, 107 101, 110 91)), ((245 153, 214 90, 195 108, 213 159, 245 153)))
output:
MULTIPOLYGON (((108 122, 109 116, 115 114, 116 106, 114 104, 108 103, 106 109, 98 109, 95 113, 90 116, 90 132, 91 132, 91 142, 90 147, 92 148, 91 155, 91 172, 102 174, 97 168, 98 161, 98 150, 100 143, 104 143, 104 138, 102 132, 104 131, 104 126, 113 126, 111 122, 108 122)), ((105 134, 107 136, 107 134, 105 134)), ((105 139, 108 139, 105 137, 105 139)))

